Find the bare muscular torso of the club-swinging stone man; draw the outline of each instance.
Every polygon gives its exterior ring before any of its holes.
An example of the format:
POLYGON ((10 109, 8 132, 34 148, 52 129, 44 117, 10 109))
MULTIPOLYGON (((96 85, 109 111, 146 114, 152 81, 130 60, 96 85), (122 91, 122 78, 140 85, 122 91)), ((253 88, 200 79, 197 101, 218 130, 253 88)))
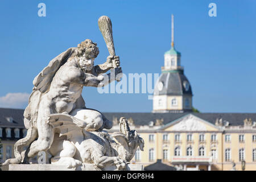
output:
POLYGON ((48 101, 50 113, 70 113, 75 109, 84 82, 85 73, 77 65, 75 58, 70 57, 56 72, 49 92, 44 95, 43 100, 48 101))

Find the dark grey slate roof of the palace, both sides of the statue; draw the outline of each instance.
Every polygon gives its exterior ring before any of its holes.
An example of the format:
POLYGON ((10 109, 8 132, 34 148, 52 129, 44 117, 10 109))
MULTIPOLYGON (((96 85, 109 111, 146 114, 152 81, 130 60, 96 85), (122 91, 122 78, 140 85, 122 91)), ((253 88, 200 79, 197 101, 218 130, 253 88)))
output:
MULTIPOLYGON (((23 109, 6 109, 0 108, 0 127, 24 127, 23 123, 23 109), (12 122, 8 118, 12 118, 12 122)), ((103 113, 109 120, 126 117, 133 118, 134 125, 142 126, 148 125, 151 121, 154 123, 156 119, 163 119, 163 125, 173 122, 176 119, 187 114, 193 114, 196 117, 204 119, 213 125, 216 119, 222 119, 223 122, 228 121, 231 126, 243 125, 243 120, 251 118, 256 122, 256 113, 103 113)))

